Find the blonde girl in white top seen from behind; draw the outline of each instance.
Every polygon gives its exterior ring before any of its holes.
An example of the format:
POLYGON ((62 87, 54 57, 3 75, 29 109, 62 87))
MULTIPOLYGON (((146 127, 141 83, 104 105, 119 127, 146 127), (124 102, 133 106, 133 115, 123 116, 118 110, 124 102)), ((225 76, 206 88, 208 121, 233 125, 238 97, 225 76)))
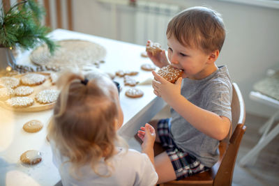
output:
POLYGON ((62 184, 155 185, 155 130, 146 123, 142 153, 127 149, 116 134, 123 112, 114 82, 98 71, 88 77, 66 72, 58 81, 48 139, 62 184))

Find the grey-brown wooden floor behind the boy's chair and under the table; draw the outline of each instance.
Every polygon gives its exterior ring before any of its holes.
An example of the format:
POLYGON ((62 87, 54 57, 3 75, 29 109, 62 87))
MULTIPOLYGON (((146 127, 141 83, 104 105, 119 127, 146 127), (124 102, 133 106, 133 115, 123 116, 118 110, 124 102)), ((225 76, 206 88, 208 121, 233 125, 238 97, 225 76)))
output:
MULTIPOLYGON (((168 108, 165 107, 155 118, 163 118, 169 116, 168 108)), ((253 165, 246 167, 239 166, 238 162, 248 151, 257 144, 261 135, 258 133, 259 127, 267 118, 246 114, 246 133, 244 134, 239 154, 234 167, 233 186, 278 186, 279 185, 279 136, 266 146, 253 165)), ((131 139, 129 141, 130 148, 140 150, 137 141, 131 139)))

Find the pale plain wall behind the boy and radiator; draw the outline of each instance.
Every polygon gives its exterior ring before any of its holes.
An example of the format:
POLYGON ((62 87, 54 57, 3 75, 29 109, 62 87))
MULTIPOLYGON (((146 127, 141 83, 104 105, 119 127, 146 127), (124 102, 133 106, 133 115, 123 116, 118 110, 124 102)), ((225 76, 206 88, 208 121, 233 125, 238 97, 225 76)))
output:
MULTIPOLYGON (((228 65, 232 80, 239 84, 243 93, 249 113, 269 116, 275 112, 271 107, 250 100, 248 95, 252 85, 265 77, 268 68, 279 66, 279 9, 217 0, 160 2, 178 3, 184 8, 204 5, 221 13, 227 28, 227 38, 218 65, 228 65)), ((73 8, 75 31, 134 42, 133 8, 117 6, 116 17, 112 16, 112 6, 96 0, 75 0, 73 8), (118 25, 116 31, 113 29, 113 20, 118 25)))

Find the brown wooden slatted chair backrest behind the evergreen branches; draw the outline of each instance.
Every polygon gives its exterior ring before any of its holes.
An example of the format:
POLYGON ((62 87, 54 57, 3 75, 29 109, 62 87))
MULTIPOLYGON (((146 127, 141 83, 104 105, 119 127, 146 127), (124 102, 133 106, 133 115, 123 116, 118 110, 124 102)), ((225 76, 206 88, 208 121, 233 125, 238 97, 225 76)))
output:
MULTIPOLYGON (((22 0, 17 0, 20 2, 22 0)), ((73 10, 72 0, 36 0, 45 7, 45 20, 43 24, 52 29, 68 29, 73 30, 73 10)), ((13 6, 15 1, 2 0, 5 12, 13 6)))

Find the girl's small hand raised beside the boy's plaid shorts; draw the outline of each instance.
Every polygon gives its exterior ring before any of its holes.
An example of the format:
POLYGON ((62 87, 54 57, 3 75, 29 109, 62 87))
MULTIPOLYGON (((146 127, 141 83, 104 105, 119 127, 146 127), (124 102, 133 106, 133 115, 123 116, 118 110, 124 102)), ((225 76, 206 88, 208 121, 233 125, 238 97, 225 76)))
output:
POLYGON ((144 127, 140 127, 140 130, 137 131, 137 136, 142 139, 142 150, 146 150, 147 148, 153 148, 156 132, 155 129, 146 123, 144 127))

